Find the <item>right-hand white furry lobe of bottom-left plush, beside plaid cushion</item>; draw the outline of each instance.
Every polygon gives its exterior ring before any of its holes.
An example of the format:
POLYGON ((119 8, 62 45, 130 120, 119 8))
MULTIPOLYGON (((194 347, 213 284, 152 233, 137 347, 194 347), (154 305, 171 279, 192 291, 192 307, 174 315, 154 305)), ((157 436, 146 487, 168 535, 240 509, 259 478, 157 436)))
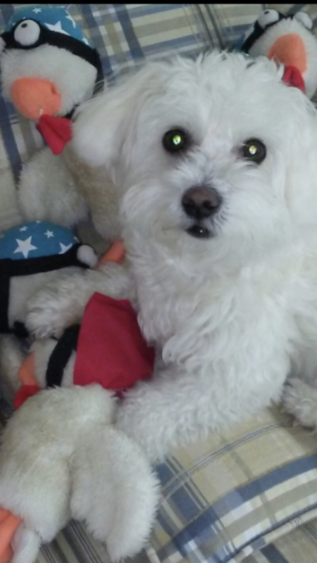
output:
POLYGON ((82 436, 72 464, 70 512, 106 543, 111 561, 144 548, 159 503, 159 482, 139 445, 113 426, 82 436))

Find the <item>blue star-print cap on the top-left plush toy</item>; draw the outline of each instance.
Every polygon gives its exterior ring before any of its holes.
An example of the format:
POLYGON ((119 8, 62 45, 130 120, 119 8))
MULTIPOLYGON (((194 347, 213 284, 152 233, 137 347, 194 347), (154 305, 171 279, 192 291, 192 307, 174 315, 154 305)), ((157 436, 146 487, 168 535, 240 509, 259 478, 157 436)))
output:
POLYGON ((18 10, 13 13, 10 20, 8 20, 6 31, 10 32, 13 27, 22 20, 35 20, 48 30, 68 35, 69 37, 73 37, 74 39, 89 45, 89 42, 83 34, 80 26, 77 25, 75 20, 65 8, 45 6, 44 4, 18 8, 18 10))

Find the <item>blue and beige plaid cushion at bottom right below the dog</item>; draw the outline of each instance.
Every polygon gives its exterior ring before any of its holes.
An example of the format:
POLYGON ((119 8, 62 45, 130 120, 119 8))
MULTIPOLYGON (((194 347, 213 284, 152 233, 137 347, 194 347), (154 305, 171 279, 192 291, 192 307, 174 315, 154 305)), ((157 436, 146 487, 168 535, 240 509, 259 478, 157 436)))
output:
MULTIPOLYGON (((317 516, 316 436, 275 407, 175 450, 151 547, 160 562, 240 562, 317 516)), ((302 559, 313 561, 313 559, 302 559)))

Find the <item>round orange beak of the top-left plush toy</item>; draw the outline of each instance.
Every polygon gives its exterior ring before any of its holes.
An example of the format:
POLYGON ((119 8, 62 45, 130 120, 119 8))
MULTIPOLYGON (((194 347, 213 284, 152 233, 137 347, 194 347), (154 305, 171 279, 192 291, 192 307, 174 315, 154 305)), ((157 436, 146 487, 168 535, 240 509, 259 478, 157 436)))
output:
POLYGON ((61 94, 54 82, 42 78, 19 78, 11 86, 15 107, 28 119, 41 115, 56 115, 61 108, 61 94))

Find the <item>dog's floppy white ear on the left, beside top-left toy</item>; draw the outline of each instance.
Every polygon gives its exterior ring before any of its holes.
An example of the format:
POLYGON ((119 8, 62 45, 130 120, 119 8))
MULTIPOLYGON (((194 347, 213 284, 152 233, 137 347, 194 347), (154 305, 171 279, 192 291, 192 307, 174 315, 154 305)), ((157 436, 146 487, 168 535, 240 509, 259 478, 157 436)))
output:
POLYGON ((147 63, 78 108, 72 146, 87 165, 111 167, 120 153, 140 96, 146 93, 147 84, 154 80, 155 74, 156 63, 147 63))

